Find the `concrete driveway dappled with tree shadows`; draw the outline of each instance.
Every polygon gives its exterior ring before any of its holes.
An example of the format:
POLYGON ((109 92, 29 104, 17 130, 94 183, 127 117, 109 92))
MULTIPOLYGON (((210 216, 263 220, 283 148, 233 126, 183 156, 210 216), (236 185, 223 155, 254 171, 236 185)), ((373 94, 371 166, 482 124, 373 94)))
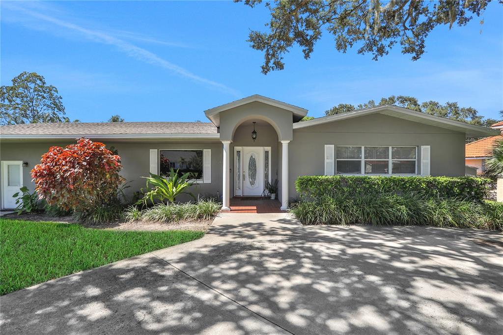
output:
POLYGON ((8 333, 501 333, 503 236, 222 214, 200 240, 1 298, 8 333))

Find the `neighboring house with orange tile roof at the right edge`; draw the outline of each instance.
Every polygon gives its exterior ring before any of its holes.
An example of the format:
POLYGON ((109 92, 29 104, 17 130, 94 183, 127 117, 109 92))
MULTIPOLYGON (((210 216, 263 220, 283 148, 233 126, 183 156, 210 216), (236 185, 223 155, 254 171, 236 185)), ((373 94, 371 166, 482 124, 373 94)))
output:
POLYGON ((477 175, 481 175, 485 171, 485 160, 491 157, 492 147, 496 141, 503 139, 503 121, 493 124, 491 128, 497 129, 501 133, 465 145, 465 164, 476 167, 477 175))

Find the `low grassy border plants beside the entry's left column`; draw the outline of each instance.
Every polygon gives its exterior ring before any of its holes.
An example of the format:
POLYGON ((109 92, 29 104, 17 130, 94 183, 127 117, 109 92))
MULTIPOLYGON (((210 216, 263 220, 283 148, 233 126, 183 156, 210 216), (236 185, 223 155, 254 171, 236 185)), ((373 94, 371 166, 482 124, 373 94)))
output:
POLYGON ((220 208, 221 204, 212 200, 185 204, 157 204, 141 211, 130 206, 125 210, 124 217, 128 221, 156 222, 210 220, 218 214, 220 208))

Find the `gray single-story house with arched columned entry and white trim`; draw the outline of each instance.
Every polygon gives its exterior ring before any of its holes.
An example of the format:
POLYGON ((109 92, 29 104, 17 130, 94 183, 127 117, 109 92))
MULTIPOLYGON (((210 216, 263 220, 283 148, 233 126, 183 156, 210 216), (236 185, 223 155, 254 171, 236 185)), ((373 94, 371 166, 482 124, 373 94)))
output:
POLYGON ((142 176, 170 167, 197 172, 193 193, 229 198, 260 196, 279 180, 286 209, 302 175, 464 176, 466 137, 496 130, 384 105, 299 122, 307 110, 254 95, 205 111, 211 123, 47 123, 0 127, 2 207, 31 190, 30 171, 52 145, 88 137, 114 146, 130 193, 142 176), (254 130, 257 138, 252 139, 254 130))

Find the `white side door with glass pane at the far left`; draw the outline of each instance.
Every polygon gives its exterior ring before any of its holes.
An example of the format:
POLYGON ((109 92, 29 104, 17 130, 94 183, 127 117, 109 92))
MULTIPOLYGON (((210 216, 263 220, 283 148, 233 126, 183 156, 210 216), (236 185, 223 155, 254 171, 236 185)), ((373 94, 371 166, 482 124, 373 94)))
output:
POLYGON ((16 208, 13 195, 23 187, 23 161, 2 161, 2 208, 16 208))

